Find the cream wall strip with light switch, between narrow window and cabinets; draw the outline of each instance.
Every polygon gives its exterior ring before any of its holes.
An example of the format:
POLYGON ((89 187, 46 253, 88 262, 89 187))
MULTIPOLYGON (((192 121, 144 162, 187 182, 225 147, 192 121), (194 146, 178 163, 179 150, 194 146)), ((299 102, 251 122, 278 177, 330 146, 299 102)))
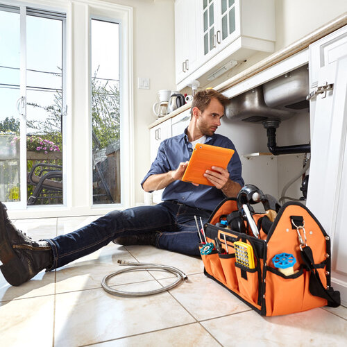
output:
POLYGON ((112 2, 133 7, 135 202, 143 202, 139 183, 150 165, 148 126, 155 121, 152 105, 158 90, 176 89, 174 0, 112 2), (137 88, 139 77, 150 78, 149 90, 137 88))

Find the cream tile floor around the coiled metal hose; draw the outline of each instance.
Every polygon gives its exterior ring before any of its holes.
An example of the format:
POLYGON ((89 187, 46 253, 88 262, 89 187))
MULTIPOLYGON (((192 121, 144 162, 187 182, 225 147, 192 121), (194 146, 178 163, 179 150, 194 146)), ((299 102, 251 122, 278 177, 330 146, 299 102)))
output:
MULTIPOLYGON (((95 217, 15 221, 35 239, 66 233, 95 217)), ((124 273, 126 291, 171 282, 159 271, 124 273)), ((57 271, 11 287, 0 274, 0 346, 347 346, 347 308, 262 317, 203 275, 203 263, 152 246, 110 244, 57 271), (155 296, 121 298, 101 289, 117 260, 169 264, 188 282, 155 296)))

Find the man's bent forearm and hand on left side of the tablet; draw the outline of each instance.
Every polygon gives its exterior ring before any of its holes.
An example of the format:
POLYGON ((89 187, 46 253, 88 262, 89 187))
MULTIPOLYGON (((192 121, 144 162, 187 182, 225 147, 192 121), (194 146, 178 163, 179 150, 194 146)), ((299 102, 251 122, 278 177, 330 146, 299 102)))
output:
POLYGON ((153 190, 159 190, 167 187, 170 183, 175 180, 183 178, 185 169, 187 169, 188 162, 180 162, 178 168, 173 171, 165 172, 164 174, 154 174, 147 178, 142 187, 145 192, 153 192, 153 190))

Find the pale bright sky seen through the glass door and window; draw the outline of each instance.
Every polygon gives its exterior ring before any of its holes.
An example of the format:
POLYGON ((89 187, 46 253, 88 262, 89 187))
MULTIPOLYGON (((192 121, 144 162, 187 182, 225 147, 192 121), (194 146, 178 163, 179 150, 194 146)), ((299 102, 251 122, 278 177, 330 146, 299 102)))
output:
MULTIPOLYGON (((19 85, 20 35, 19 13, 0 10, 0 84, 19 85), (14 68, 14 69, 9 69, 14 68)), ((98 78, 119 79, 119 26, 114 23, 92 20, 92 76, 99 67, 98 78)), ((54 91, 61 89, 62 78, 62 22, 55 19, 26 16, 26 78, 27 101, 40 105, 53 103, 54 91), (29 71, 30 70, 30 71, 29 71), (58 74, 56 76, 55 74, 58 74)), ((0 85, 0 121, 6 117, 19 119, 17 87, 0 85)), ((27 119, 44 119, 46 112, 27 106, 27 119)))

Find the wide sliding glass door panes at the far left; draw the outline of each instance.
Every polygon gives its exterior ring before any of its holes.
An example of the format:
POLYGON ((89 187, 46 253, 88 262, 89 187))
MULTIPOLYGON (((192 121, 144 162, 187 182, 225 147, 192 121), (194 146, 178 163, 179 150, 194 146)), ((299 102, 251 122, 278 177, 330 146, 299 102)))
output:
POLYGON ((1 201, 62 204, 64 26, 62 13, 0 6, 1 201))

